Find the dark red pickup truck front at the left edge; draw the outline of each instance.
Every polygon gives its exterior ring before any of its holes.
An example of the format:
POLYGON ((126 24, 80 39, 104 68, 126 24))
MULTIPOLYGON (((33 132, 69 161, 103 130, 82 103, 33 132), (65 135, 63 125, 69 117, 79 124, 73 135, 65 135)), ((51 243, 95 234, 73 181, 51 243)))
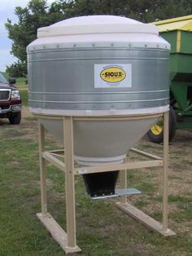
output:
POLYGON ((9 82, 0 73, 0 118, 8 118, 11 125, 20 124, 21 99, 20 91, 14 86, 15 78, 9 82))

